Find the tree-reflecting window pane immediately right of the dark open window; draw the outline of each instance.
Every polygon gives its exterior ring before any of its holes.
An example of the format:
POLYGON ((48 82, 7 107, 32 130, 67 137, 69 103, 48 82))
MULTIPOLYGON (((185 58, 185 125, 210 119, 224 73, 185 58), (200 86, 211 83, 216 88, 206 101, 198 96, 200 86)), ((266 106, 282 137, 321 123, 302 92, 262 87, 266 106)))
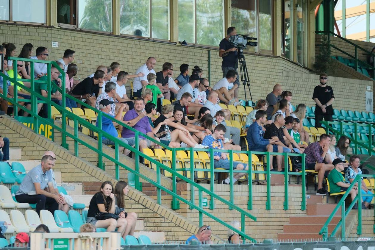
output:
POLYGON ((112 0, 80 0, 80 28, 112 32, 112 0))

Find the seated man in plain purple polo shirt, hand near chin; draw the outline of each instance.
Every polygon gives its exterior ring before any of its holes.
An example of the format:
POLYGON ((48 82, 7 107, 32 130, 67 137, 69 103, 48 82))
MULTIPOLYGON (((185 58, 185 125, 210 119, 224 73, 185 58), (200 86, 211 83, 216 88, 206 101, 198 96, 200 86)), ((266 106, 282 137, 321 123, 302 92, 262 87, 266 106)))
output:
MULTIPOLYGON (((124 115, 124 121, 135 130, 138 130, 141 133, 144 133, 151 138, 154 138, 157 141, 160 141, 158 138, 154 137, 154 134, 151 131, 150 121, 146 116, 146 111, 144 111, 144 100, 141 97, 138 97, 134 101, 134 109, 126 112, 124 115)), ((133 139, 135 141, 135 133, 127 128, 123 128, 121 132, 121 137, 133 139)), ((152 146, 158 147, 154 142, 149 139, 144 138, 144 136, 139 135, 139 151, 143 153, 143 148, 149 148, 152 146)))

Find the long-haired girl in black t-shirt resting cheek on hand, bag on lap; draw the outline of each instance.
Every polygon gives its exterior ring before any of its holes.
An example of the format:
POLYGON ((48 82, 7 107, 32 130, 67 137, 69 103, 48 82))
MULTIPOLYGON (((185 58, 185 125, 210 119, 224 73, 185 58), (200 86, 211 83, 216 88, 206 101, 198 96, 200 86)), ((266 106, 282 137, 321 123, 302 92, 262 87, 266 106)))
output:
MULTIPOLYGON (((95 218, 96 213, 115 213, 115 196, 113 194, 113 184, 110 181, 105 181, 100 187, 100 192, 96 193, 91 198, 89 211, 87 213, 87 223, 94 225, 96 228, 107 228, 107 232, 115 231, 120 232, 121 237, 124 235, 127 221, 122 218, 97 220, 95 218)), ((124 238, 125 239, 125 238, 124 238)))

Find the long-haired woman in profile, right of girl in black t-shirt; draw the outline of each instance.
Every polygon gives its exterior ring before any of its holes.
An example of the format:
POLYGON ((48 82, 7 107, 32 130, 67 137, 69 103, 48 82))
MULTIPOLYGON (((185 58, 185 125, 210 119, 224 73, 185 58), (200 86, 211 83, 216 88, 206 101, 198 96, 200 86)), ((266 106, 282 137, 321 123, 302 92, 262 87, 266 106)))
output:
POLYGON ((124 235, 134 235, 135 224, 137 222, 137 214, 134 212, 125 212, 124 196, 129 192, 129 186, 126 181, 118 181, 115 186, 115 214, 119 218, 127 221, 124 235))

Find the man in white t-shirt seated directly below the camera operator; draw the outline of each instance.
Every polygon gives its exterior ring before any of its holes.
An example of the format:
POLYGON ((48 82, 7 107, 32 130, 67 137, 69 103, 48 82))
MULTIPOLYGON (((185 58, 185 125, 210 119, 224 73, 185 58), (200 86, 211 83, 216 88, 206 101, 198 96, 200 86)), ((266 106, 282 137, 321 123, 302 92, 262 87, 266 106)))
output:
POLYGON ((221 102, 229 105, 237 105, 238 99, 234 98, 234 90, 238 88, 238 85, 233 85, 237 79, 236 70, 230 69, 226 76, 212 87, 212 90, 216 91, 221 102))

